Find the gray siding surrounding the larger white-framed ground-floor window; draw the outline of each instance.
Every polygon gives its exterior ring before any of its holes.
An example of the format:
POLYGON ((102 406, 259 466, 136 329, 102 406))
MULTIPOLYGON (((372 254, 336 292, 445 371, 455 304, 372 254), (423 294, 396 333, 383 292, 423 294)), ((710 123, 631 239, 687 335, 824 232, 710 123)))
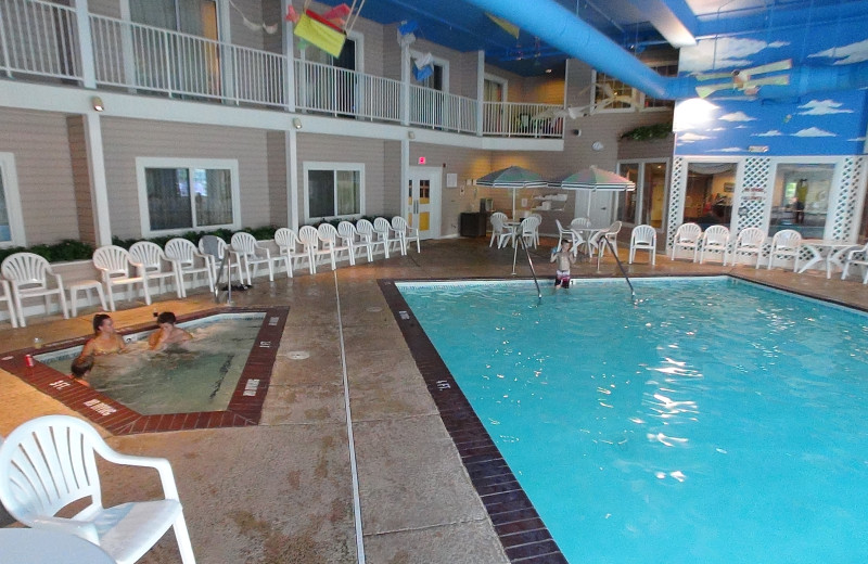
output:
POLYGON ((138 238, 142 234, 137 157, 237 159, 242 226, 270 222, 268 150, 264 131, 126 118, 104 118, 102 124, 113 235, 138 238))

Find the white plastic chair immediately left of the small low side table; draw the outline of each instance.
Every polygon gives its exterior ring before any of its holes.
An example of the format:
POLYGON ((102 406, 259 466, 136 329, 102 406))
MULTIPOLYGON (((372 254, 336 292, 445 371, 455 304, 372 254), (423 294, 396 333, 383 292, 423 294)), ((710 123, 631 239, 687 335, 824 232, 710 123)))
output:
MULTIPOLYGON (((43 297, 46 299, 46 315, 48 315, 51 308, 50 298, 56 294, 61 313, 63 313, 64 319, 69 319, 63 279, 51 270, 51 265, 43 257, 34 253, 15 253, 3 260, 0 271, 2 271, 3 278, 9 281, 12 290, 11 297, 15 300, 15 311, 18 313, 18 324, 21 326, 26 326, 22 300, 29 297, 43 297), (49 287, 49 278, 54 279, 53 287, 49 287)), ((10 289, 4 289, 7 296, 10 295, 10 289)), ((12 315, 11 309, 10 315, 12 315)))

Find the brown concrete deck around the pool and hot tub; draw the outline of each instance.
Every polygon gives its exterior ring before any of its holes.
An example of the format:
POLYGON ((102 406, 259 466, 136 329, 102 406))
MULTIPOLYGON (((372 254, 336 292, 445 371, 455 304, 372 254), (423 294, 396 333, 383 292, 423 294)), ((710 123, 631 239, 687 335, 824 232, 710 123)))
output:
MULTIPOLYGON (((551 243, 544 240, 535 256, 537 272, 547 279, 544 299, 552 291, 551 243)), ((624 248, 621 256, 626 259, 624 248)), ((663 255, 652 267, 644 257, 641 253, 643 262, 629 267, 631 274, 731 272, 868 310, 868 286, 853 277, 841 281, 840 274, 827 280, 820 272, 693 265, 663 255)), ((599 272, 596 262, 577 265, 573 277, 615 270, 610 258, 599 272)), ((258 426, 128 436, 101 431, 119 451, 171 462, 197 562, 357 562, 346 373, 366 562, 507 563, 378 280, 511 278, 511 249, 489 248, 483 239, 454 239, 423 242, 421 255, 413 251, 334 273, 321 267, 312 277, 296 271, 294 279, 279 273, 275 283, 256 279, 252 290, 233 294, 235 305, 290 307, 258 426)), ((520 260, 518 274, 529 275, 526 262, 520 260)), ((626 286, 624 293, 626 299, 626 286)), ((119 307, 125 309, 112 316, 123 328, 152 321, 154 308, 180 316, 215 305, 210 295, 196 293, 154 306, 125 302, 119 307)), ((52 343, 87 335, 95 311, 86 308, 69 320, 33 317, 24 329, 4 324, 0 348, 24 348, 37 336, 52 343)), ((77 415, 3 370, 0 389, 0 435, 35 416, 77 415)), ((106 504, 159 495, 156 475, 149 471, 105 467, 102 478, 106 504)), ((10 521, 0 509, 0 525, 10 521)), ((180 562, 174 536, 166 535, 140 562, 180 562)))

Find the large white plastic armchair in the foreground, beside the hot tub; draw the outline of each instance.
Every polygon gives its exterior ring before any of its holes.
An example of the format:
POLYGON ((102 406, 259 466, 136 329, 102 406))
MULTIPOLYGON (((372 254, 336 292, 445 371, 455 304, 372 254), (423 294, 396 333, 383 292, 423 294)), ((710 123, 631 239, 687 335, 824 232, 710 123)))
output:
POLYGON ((119 564, 138 561, 174 527, 181 561, 195 564, 169 461, 117 452, 76 418, 33 419, 7 437, 0 446, 0 501, 24 525, 80 537, 119 564), (95 454, 115 464, 155 469, 164 499, 103 508, 95 454), (56 516, 82 500, 89 503, 72 518, 56 516))

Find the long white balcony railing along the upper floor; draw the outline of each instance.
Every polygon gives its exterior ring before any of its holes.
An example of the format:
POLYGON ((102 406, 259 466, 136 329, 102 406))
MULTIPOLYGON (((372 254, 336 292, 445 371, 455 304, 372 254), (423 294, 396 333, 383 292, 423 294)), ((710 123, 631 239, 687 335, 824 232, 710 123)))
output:
POLYGON ((480 104, 391 78, 95 14, 87 20, 89 40, 80 41, 77 17, 74 8, 43 0, 0 0, 0 72, 84 84, 86 68, 92 68, 91 85, 142 94, 284 110, 294 105, 302 112, 458 133, 563 134, 563 120, 550 117, 559 106, 551 104, 480 104))

